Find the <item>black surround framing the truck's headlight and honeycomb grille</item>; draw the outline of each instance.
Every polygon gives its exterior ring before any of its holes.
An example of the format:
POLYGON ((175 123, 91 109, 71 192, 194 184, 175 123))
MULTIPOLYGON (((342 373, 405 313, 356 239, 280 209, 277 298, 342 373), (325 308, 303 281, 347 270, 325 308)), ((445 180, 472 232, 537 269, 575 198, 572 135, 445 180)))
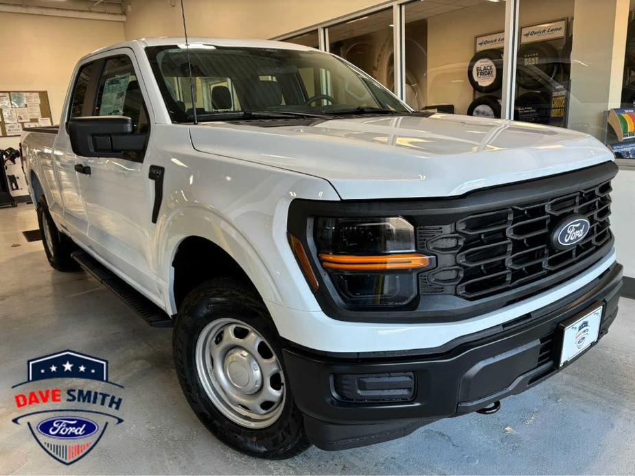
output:
POLYGON ((441 226, 457 222, 473 213, 492 211, 514 204, 540 202, 566 195, 610 180, 617 173, 614 162, 548 176, 511 185, 490 187, 454 198, 407 200, 293 200, 289 207, 288 231, 303 244, 319 282, 316 299, 330 318, 351 322, 452 322, 500 309, 521 299, 539 294, 581 274, 610 253, 611 238, 605 245, 566 269, 546 278, 478 300, 467 300, 448 294, 421 296, 400 309, 354 309, 338 295, 327 271, 319 265, 314 243, 314 217, 390 217, 408 219, 415 227, 441 226))

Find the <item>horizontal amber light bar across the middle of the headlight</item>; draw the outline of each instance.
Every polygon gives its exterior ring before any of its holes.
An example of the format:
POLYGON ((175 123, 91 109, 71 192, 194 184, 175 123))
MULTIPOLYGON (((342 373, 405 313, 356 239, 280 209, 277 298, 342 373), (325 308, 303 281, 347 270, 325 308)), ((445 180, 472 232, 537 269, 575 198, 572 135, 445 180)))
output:
POLYGON ((321 253, 320 259, 327 270, 345 271, 416 270, 430 264, 430 258, 419 253, 374 256, 321 253))

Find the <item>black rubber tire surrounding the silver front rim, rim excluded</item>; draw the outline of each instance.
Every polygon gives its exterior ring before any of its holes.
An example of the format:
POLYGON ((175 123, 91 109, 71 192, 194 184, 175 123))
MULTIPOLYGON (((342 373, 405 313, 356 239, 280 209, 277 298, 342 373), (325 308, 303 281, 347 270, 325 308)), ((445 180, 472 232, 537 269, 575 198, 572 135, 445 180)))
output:
POLYGON ((279 417, 270 426, 251 429, 227 418, 203 388, 196 369, 196 342, 214 320, 231 317, 253 327, 272 346, 284 372, 280 337, 273 321, 251 285, 236 278, 214 278, 191 291, 174 323, 174 364, 187 402, 198 419, 219 440, 247 455, 284 460, 310 447, 303 416, 285 386, 286 398, 279 417))

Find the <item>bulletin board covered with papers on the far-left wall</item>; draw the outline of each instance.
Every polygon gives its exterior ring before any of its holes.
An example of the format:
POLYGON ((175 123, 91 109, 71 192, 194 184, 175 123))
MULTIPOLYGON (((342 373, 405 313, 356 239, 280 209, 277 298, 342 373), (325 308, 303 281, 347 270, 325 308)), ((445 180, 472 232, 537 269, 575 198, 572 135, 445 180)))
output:
POLYGON ((52 125, 46 91, 0 91, 0 137, 19 136, 24 129, 52 125))

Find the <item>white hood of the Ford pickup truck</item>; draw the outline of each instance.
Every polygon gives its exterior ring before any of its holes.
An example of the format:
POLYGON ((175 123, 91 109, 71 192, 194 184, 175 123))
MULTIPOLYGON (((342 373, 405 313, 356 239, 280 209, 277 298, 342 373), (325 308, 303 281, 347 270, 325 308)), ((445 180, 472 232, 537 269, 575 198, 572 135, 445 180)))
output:
POLYGON ((310 126, 203 123, 196 150, 328 180, 343 200, 463 195, 612 160, 580 132, 459 115, 334 119, 310 126))

